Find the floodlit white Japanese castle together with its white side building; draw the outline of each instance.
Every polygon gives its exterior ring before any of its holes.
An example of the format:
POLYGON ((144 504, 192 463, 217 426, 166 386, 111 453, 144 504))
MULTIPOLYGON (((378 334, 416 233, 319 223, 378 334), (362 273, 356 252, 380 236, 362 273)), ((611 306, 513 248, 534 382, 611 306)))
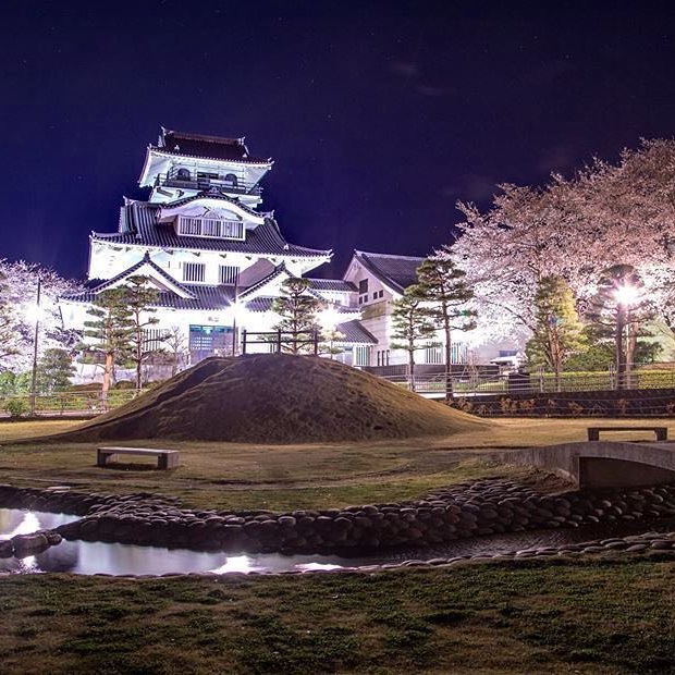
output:
MULTIPOLYGON (((273 213, 260 210, 260 182, 272 163, 251 156, 243 138, 162 128, 139 179, 148 200, 125 198, 118 231, 91 233, 87 290, 61 299, 66 327, 82 329, 98 293, 142 274, 159 298, 149 338, 160 347, 177 333, 187 364, 233 354, 244 329, 271 330, 282 282, 331 258, 331 250, 287 242, 273 213)), ((372 367, 407 361, 390 347, 392 303, 416 281, 421 261, 356 250, 343 279, 309 277, 309 292, 332 308, 335 358, 372 367)), ((454 361, 466 359, 466 345, 453 348, 454 361)), ((441 364, 442 354, 440 342, 430 343, 418 360, 441 364)))

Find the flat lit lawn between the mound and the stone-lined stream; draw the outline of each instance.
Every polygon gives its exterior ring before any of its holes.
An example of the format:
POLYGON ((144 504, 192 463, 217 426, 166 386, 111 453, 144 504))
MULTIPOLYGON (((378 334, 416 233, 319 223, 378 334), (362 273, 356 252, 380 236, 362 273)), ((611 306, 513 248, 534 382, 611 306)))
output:
MULTIPOLYGON (((130 458, 120 469, 98 468, 97 443, 12 443, 77 424, 0 422, 0 482, 70 484, 106 492, 158 491, 181 496, 195 507, 339 507, 414 499, 441 486, 484 476, 537 479, 539 475, 524 468, 495 468, 489 461, 490 451, 581 441, 589 422, 496 420, 487 430, 451 437, 360 444, 245 445, 157 439, 120 443, 181 450, 181 466, 171 471, 148 470, 149 466, 138 464, 140 458, 130 458)), ((621 424, 639 425, 640 420, 621 424)), ((616 440, 639 437, 630 432, 612 435, 616 440)))

